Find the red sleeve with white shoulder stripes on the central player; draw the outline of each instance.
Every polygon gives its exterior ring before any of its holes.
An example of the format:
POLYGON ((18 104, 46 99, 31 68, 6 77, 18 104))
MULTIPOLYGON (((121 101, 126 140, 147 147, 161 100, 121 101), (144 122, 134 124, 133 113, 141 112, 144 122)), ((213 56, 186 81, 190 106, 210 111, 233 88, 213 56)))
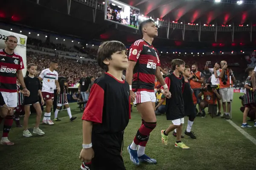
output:
POLYGON ((137 62, 140 57, 140 53, 143 50, 143 40, 135 41, 129 50, 129 60, 137 62))

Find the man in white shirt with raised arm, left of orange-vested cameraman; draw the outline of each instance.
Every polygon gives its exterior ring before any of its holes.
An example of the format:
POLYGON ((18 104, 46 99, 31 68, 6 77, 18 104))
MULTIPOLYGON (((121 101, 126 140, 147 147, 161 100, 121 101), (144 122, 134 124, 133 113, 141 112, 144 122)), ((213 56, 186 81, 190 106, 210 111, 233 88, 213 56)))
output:
MULTIPOLYGON (((218 78, 218 76, 220 75, 220 68, 221 68, 221 64, 219 62, 215 62, 215 65, 213 68, 208 68, 208 65, 210 65, 211 62, 210 61, 207 61, 206 62, 206 65, 204 66, 204 70, 205 71, 209 71, 212 76, 211 76, 211 83, 212 85, 219 85, 220 84, 220 80, 218 78)), ((219 92, 219 89, 217 89, 218 93, 219 92)), ((218 102, 218 115, 217 116, 221 116, 221 100, 217 100, 218 102)))

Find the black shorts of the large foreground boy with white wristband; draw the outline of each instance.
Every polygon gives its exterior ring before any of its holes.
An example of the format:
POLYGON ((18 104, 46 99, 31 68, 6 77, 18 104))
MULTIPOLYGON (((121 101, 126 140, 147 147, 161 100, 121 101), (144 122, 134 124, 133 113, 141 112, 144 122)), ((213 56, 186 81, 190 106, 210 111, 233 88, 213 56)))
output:
POLYGON ((90 170, 126 170, 122 156, 123 132, 92 133, 94 158, 90 170))

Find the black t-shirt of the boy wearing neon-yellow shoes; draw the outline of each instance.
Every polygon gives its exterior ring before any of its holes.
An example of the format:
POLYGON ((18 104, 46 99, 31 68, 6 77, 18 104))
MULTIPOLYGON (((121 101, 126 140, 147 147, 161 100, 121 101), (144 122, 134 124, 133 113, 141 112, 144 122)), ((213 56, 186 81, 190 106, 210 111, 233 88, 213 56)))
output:
POLYGON ((172 94, 170 99, 166 98, 166 119, 175 120, 184 117, 184 102, 182 97, 182 76, 176 77, 171 73, 165 78, 166 85, 172 94))

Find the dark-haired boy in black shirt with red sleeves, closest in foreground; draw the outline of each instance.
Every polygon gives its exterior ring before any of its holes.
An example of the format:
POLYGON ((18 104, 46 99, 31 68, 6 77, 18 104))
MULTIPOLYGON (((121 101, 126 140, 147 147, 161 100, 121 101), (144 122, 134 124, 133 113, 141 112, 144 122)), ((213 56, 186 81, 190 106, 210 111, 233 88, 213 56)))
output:
POLYGON ((128 65, 126 47, 119 41, 103 42, 97 58, 106 73, 94 81, 82 116, 81 169, 125 170, 121 150, 131 118, 129 84, 122 79, 128 65))

